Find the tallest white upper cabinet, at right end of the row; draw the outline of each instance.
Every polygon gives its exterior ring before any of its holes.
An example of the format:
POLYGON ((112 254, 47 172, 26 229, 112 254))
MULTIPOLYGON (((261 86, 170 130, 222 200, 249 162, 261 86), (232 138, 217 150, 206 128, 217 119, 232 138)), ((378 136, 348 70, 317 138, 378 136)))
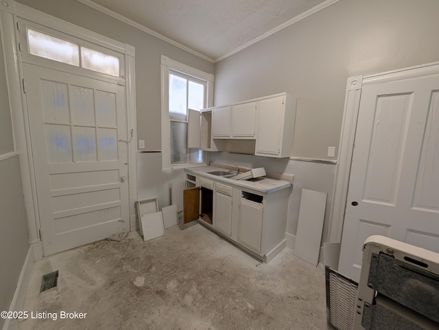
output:
POLYGON ((293 147, 296 99, 288 94, 259 101, 254 155, 289 157, 293 147))

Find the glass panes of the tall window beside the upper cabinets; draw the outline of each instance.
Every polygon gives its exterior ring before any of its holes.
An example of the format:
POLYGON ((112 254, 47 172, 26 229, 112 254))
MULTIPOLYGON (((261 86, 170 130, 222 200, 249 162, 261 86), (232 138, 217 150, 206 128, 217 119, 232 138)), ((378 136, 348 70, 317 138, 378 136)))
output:
POLYGON ((206 107, 206 81, 182 73, 169 73, 171 164, 203 162, 203 152, 188 148, 189 109, 206 107))

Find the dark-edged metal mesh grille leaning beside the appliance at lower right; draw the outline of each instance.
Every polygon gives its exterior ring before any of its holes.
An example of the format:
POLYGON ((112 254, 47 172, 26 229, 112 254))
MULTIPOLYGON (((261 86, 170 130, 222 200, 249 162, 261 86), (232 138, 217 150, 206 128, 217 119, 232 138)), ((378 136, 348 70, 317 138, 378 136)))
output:
POLYGON ((358 284, 326 267, 327 321, 338 330, 351 330, 354 324, 358 284))

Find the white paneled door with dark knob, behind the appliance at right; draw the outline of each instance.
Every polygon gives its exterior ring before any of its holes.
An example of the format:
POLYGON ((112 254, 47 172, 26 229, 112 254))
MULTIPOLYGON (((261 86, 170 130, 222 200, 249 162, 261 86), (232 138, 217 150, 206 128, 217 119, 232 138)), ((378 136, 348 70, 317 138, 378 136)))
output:
POLYGON ((439 77, 363 86, 339 271, 383 235, 439 253, 439 77))

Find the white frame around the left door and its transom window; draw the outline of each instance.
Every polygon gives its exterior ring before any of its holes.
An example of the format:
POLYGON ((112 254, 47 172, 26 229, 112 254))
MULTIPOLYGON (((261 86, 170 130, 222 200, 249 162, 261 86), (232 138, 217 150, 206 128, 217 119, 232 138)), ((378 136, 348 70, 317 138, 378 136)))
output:
POLYGON ((16 3, 14 0, 4 0, 0 6, 0 26, 3 38, 3 53, 5 57, 5 70, 12 108, 12 128, 16 153, 20 158, 21 181, 27 227, 29 232, 29 246, 32 248, 34 259, 43 258, 43 244, 40 238, 40 218, 38 214, 38 200, 36 195, 35 173, 33 167, 32 149, 29 137, 29 118, 27 116, 27 103, 23 92, 23 64, 19 50, 19 31, 17 18, 46 25, 51 29, 71 34, 95 45, 106 47, 122 53, 125 56, 126 70, 126 140, 128 143, 128 190, 130 210, 130 230, 136 229, 137 201, 137 132, 136 132, 136 95, 134 76, 134 47, 117 42, 96 34, 77 25, 73 25, 59 18, 50 16, 38 10, 16 3))

